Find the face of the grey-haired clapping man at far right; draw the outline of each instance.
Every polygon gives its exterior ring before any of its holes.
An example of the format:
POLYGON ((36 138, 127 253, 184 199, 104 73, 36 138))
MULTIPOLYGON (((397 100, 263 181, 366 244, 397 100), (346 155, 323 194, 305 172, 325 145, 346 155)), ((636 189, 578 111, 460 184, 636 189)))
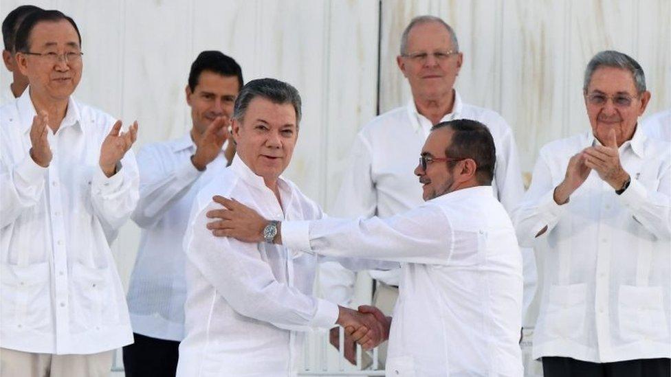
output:
POLYGON ((634 77, 626 69, 615 67, 599 67, 592 78, 585 94, 585 107, 592 133, 601 142, 608 144, 610 130, 615 130, 617 145, 631 139, 636 130, 638 117, 646 110, 650 92, 638 95, 634 77), (605 103, 595 104, 594 99, 606 98, 605 103), (618 98, 630 98, 630 104, 623 106, 618 98))

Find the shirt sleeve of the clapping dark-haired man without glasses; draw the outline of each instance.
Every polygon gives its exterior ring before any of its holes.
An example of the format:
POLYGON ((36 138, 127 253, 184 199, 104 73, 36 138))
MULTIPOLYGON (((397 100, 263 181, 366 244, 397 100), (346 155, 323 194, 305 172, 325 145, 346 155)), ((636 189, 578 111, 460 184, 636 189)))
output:
POLYGON ((137 166, 140 168, 140 201, 131 218, 141 228, 151 227, 162 218, 202 174, 190 159, 174 169, 162 168, 160 154, 155 146, 146 146, 140 150, 137 166))

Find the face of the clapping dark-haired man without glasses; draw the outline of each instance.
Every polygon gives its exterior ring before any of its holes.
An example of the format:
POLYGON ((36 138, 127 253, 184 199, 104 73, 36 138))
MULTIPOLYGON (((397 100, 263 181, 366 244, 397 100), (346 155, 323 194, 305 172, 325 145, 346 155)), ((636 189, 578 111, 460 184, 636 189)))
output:
POLYGON ((235 96, 239 91, 240 83, 236 76, 221 76, 212 71, 202 71, 193 92, 186 86, 186 103, 191 106, 195 132, 202 135, 217 117, 230 118, 235 96))

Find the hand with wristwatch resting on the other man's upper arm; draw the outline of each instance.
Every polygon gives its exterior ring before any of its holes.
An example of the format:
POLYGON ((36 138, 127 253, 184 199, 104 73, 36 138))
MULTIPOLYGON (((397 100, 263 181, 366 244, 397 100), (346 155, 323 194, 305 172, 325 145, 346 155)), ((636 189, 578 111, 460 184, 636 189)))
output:
POLYGON ((208 222, 208 229, 214 236, 232 237, 242 242, 263 242, 263 228, 268 220, 250 207, 235 199, 214 196, 212 200, 223 205, 224 209, 212 209, 206 216, 216 220, 208 222))

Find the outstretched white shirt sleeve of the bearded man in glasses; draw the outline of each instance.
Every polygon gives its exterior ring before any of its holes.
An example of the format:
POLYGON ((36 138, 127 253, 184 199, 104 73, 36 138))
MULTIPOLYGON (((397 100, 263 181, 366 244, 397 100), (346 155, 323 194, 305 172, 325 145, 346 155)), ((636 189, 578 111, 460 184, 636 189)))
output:
POLYGON ((284 221, 281 232, 292 249, 399 263, 448 264, 455 242, 450 220, 435 205, 385 219, 284 221))

